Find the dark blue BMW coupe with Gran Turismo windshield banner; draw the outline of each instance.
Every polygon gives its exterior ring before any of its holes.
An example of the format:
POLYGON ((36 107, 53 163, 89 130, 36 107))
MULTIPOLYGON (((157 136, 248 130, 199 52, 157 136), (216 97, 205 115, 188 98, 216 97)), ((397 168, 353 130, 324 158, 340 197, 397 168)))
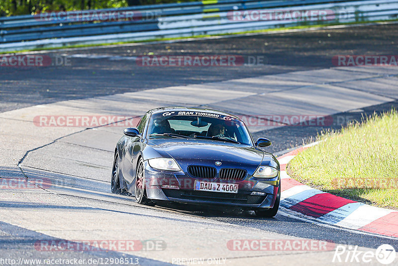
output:
POLYGON ((184 107, 148 111, 116 144, 111 190, 140 204, 174 201, 278 212, 279 162, 258 147, 244 123, 227 113, 184 107))

